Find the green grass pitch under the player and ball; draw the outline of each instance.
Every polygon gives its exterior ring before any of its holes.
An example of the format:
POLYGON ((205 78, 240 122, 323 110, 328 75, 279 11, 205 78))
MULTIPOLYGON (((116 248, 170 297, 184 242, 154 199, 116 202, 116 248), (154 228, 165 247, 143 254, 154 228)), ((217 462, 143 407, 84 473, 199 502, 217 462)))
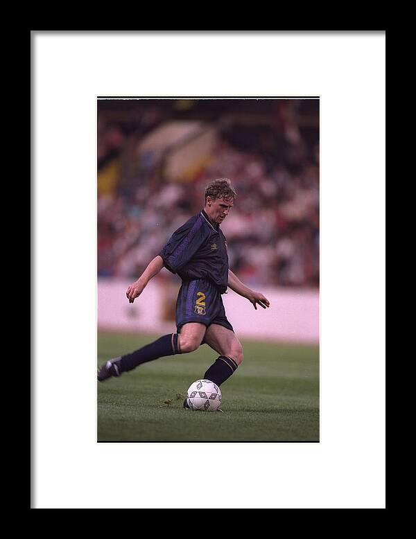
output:
MULTIPOLYGON (((158 336, 98 333, 98 365, 158 336)), ((98 441, 319 441, 319 347, 241 339, 224 413, 182 408, 218 354, 207 344, 97 382, 98 441)))

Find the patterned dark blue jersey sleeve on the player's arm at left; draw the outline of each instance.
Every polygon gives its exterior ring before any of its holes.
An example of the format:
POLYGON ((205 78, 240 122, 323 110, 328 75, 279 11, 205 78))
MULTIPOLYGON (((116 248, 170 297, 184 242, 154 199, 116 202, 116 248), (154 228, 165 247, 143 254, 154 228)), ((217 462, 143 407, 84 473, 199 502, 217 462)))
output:
POLYGON ((206 242, 208 235, 201 216, 182 225, 159 252, 166 268, 172 273, 180 271, 206 242))

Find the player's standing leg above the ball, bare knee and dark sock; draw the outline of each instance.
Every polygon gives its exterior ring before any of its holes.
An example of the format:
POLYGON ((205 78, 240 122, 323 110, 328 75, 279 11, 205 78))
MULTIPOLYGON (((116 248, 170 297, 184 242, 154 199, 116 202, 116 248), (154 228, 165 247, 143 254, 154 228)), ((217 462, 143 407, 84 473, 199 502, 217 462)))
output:
POLYGON ((234 331, 219 324, 211 324, 207 328, 204 342, 219 354, 205 372, 204 378, 220 386, 243 362, 243 347, 234 331))

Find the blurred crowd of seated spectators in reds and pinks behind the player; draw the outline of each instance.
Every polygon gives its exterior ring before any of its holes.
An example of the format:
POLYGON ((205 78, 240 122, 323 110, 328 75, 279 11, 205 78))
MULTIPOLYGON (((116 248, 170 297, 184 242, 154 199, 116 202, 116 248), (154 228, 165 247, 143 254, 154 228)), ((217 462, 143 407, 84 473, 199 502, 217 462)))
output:
MULTIPOLYGON (((142 161, 123 174, 124 164, 112 193, 98 195, 98 275, 137 279, 171 233, 202 209, 207 183, 227 177, 237 193, 221 225, 231 269, 250 287, 318 287, 318 102, 306 112, 300 106, 277 103, 271 121, 258 124, 224 123, 219 113, 218 145, 187 182, 167 182, 159 161, 142 161), (315 123, 302 123, 311 112, 315 123)), ((152 104, 146 114, 129 116, 129 124, 106 121, 98 110, 98 170, 133 134, 137 139, 171 116, 152 104)))

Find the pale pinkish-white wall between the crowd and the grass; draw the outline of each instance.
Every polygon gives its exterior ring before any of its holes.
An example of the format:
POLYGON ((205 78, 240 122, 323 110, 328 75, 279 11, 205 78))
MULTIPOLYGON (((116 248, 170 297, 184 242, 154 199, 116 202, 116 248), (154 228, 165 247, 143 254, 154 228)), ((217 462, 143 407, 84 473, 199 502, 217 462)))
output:
MULTIPOLYGON (((98 279, 98 329, 169 333, 175 331, 175 319, 166 321, 166 302, 174 307, 179 284, 153 280, 141 296, 129 303, 125 290, 130 281, 98 279)), ((261 288, 270 308, 252 304, 232 290, 223 294, 227 318, 236 335, 252 339, 286 342, 319 342, 318 290, 261 288)))

